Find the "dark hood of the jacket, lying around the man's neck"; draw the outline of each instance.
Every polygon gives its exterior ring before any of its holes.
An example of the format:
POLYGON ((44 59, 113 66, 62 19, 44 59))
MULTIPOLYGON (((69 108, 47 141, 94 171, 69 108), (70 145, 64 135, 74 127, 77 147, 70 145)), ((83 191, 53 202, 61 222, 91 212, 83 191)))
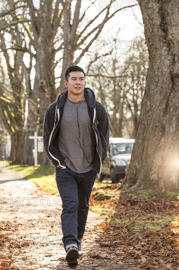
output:
MULTIPOLYGON (((60 94, 57 98, 57 108, 63 108, 65 105, 65 102, 67 100, 68 91, 66 90, 62 94, 60 94)), ((84 88, 84 96, 85 100, 87 101, 88 107, 95 108, 96 106, 96 99, 94 92, 89 88, 84 88)))

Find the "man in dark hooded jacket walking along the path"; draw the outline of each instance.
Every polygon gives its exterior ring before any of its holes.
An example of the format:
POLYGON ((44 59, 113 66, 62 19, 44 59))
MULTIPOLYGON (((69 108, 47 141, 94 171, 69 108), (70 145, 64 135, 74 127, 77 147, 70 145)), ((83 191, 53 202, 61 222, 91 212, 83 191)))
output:
POLYGON ((63 243, 68 266, 83 256, 82 237, 89 211, 91 190, 109 146, 109 120, 104 106, 86 88, 85 72, 67 68, 67 91, 46 110, 44 146, 56 167, 56 183, 62 198, 63 243))

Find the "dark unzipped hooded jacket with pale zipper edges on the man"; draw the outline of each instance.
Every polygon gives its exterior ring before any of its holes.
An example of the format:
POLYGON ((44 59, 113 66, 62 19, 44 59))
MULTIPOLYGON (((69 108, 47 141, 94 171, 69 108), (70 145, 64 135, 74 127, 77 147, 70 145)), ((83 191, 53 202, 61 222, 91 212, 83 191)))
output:
MULTIPOLYGON (((58 135, 63 116, 64 105, 67 100, 67 90, 58 96, 45 112, 43 140, 45 152, 55 166, 64 167, 64 157, 58 147, 58 135)), ((90 116, 91 130, 95 152, 92 161, 93 169, 101 173, 109 147, 109 119, 104 106, 95 100, 94 92, 90 88, 84 89, 90 116)))

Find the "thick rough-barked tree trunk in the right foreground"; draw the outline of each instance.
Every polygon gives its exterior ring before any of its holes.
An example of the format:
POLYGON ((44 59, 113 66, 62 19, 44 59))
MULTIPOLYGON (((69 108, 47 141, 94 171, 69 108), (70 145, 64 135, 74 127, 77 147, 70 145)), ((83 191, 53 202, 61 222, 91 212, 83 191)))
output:
POLYGON ((149 70, 132 160, 122 187, 177 190, 179 0, 138 3, 149 51, 149 70))

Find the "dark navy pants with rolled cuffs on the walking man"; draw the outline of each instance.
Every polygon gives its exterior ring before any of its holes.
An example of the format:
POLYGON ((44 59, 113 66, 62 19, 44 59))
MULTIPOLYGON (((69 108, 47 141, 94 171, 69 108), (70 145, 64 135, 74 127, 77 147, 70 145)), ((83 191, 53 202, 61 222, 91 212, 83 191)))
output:
POLYGON ((91 190, 96 171, 76 173, 66 166, 56 168, 56 183, 62 199, 62 232, 65 250, 78 247, 78 239, 85 233, 91 190))

